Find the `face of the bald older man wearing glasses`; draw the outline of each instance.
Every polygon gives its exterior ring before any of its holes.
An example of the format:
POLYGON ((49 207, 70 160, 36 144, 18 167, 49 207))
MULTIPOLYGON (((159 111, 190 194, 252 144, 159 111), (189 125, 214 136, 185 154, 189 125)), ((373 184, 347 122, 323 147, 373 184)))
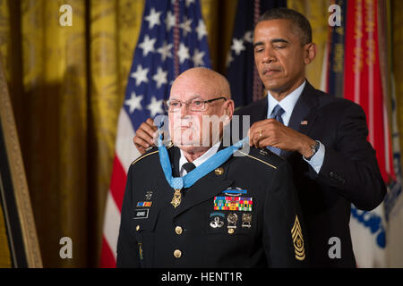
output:
MULTIPOLYGON (((169 100, 190 103, 193 99, 204 101, 221 96, 223 95, 215 90, 213 82, 194 77, 179 77, 171 88, 169 100)), ((222 134, 222 124, 211 124, 208 121, 225 115, 227 103, 228 100, 224 99, 206 103, 204 111, 191 111, 189 106, 182 104, 179 111, 168 112, 172 142, 184 151, 211 146, 211 143, 215 143, 211 141, 222 134)))

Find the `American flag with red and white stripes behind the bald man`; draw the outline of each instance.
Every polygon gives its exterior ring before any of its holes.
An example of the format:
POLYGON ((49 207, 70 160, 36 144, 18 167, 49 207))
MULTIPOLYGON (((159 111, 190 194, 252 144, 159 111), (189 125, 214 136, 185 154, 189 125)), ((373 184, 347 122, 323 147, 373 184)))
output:
POLYGON ((207 30, 199 0, 147 0, 134 51, 124 105, 119 114, 116 151, 101 251, 101 267, 116 266, 116 244, 126 174, 140 156, 134 130, 147 118, 164 114, 163 101, 177 75, 194 66, 210 68, 207 30))

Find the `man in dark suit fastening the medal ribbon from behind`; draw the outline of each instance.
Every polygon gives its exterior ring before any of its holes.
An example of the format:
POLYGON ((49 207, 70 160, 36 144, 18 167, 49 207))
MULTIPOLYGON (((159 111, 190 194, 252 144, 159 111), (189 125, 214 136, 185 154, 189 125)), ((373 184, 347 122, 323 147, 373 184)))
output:
MULTIPOLYGON (((366 140, 364 111, 305 80, 316 46, 302 14, 286 8, 264 13, 253 46, 268 96, 236 114, 250 115, 251 146, 269 148, 293 168, 311 265, 355 267, 348 226, 351 203, 372 210, 386 194, 375 151, 366 140), (340 241, 339 257, 329 255, 333 237, 340 241)), ((154 129, 149 119, 136 131, 133 141, 141 152, 152 144, 154 129)))

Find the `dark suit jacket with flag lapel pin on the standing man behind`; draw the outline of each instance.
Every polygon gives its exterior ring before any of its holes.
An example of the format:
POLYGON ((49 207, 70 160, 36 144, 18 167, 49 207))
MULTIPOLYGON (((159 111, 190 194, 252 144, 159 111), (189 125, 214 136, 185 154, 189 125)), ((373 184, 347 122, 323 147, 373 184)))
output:
MULTIPOLYGON (((267 98, 263 98, 236 114, 250 115, 252 125, 267 118, 267 109, 267 98)), ((306 81, 288 127, 321 141, 326 148, 319 174, 299 153, 281 154, 294 171, 311 265, 356 267, 348 226, 351 203, 372 210, 386 194, 375 151, 366 140, 364 111, 352 101, 323 93, 306 81), (340 240, 341 258, 329 256, 332 237, 340 240)))

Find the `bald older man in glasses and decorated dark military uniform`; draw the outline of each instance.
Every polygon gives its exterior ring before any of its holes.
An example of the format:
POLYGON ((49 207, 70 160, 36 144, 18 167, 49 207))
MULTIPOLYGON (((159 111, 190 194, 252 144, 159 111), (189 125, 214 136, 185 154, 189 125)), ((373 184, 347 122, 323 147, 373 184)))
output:
POLYGON ((234 112, 227 80, 205 68, 184 71, 167 112, 174 146, 151 149, 128 172, 117 266, 304 266, 290 166, 255 148, 233 156, 221 144, 234 112), (228 120, 207 129, 203 116, 214 115, 228 120))

